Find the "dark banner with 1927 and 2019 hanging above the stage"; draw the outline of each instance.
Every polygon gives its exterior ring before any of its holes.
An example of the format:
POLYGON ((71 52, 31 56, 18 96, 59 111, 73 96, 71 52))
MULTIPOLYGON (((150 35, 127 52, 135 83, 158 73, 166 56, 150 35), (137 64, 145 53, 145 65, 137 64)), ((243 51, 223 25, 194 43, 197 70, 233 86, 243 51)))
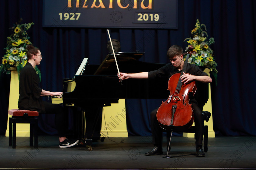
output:
POLYGON ((178 0, 44 0, 44 27, 178 28, 178 0))

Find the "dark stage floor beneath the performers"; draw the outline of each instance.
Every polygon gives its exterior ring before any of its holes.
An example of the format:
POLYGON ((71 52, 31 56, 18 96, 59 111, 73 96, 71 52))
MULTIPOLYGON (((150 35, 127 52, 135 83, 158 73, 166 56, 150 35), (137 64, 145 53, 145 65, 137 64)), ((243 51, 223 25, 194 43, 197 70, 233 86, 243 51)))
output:
MULTIPOLYGON (((172 137, 171 158, 146 156, 153 148, 151 137, 105 138, 86 147, 59 148, 58 137, 39 136, 38 149, 29 147, 28 137, 16 138, 16 149, 8 137, 0 136, 0 169, 256 169, 256 137, 208 139, 205 157, 195 156, 193 138, 172 137)), ((164 148, 166 139, 164 137, 164 148)))

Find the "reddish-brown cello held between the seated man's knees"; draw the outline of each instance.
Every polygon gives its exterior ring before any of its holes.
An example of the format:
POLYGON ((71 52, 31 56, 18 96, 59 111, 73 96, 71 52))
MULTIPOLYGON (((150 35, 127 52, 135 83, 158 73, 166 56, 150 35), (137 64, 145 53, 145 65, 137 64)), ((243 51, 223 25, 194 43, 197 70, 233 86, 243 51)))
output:
MULTIPOLYGON (((184 61, 181 73, 173 74, 169 78, 167 90, 170 91, 170 95, 165 102, 162 101, 162 104, 158 108, 156 114, 159 125, 163 129, 171 132, 185 131, 190 128, 194 122, 193 108, 192 104, 189 104, 188 94, 192 92, 194 95, 197 87, 195 81, 184 84, 181 82, 182 80, 180 78, 183 73, 186 73, 189 56, 196 53, 195 51, 193 52, 192 46, 189 47, 189 50, 189 52, 185 52, 187 56, 186 60, 184 61)), ((167 155, 164 158, 169 158, 168 151, 169 147, 167 150, 167 155)))

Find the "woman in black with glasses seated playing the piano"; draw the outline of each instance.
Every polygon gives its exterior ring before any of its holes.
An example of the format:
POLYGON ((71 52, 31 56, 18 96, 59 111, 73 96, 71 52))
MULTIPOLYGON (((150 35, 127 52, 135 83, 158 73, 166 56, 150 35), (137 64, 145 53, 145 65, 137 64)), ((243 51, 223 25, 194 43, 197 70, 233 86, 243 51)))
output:
POLYGON ((34 67, 39 65, 42 54, 37 47, 26 46, 28 58, 27 64, 20 72, 20 97, 18 101, 19 109, 38 111, 39 113, 55 114, 55 125, 59 135, 59 147, 68 148, 78 143, 78 140, 70 141, 65 136, 64 110, 58 104, 42 101, 40 96, 61 96, 62 92, 50 92, 38 86, 38 76, 34 67))

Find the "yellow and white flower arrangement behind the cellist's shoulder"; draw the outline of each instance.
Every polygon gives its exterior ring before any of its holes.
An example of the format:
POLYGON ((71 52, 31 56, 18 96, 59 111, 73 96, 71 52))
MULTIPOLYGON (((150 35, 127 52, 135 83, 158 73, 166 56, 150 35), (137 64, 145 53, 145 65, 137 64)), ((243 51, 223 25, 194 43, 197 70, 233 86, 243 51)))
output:
MULTIPOLYGON (((206 26, 204 24, 200 25, 199 20, 197 19, 195 28, 191 31, 192 38, 186 38, 184 41, 187 41, 189 44, 193 46, 193 51, 196 54, 192 54, 188 60, 189 63, 196 64, 198 66, 205 66, 209 69, 212 69, 212 74, 217 78, 217 63, 214 61, 213 51, 209 47, 211 44, 214 44, 214 39, 207 39, 208 34, 206 32, 206 26)), ((186 48, 186 51, 188 49, 186 48)), ((185 58, 185 57, 184 57, 185 58)))

